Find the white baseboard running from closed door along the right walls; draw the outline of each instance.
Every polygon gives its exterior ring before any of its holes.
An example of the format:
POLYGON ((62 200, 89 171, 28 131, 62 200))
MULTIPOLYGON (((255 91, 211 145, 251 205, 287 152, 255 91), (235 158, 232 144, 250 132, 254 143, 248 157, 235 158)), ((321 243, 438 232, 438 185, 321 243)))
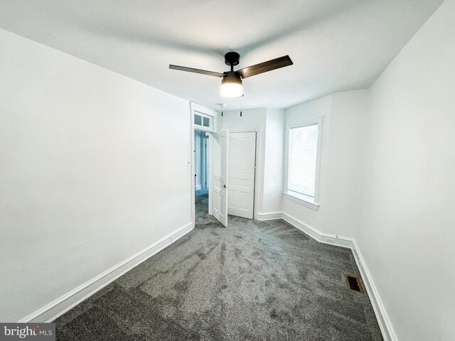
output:
POLYGON ((365 260, 358 248, 357 242, 355 239, 350 237, 342 237, 335 234, 326 234, 314 227, 311 227, 309 224, 301 222, 296 217, 288 215, 286 212, 267 212, 267 213, 257 213, 257 220, 273 220, 273 219, 283 219, 292 226, 300 229, 302 232, 308 234, 311 238, 317 240, 318 242, 324 244, 336 245, 338 247, 346 247, 351 249, 355 259, 355 263, 360 271, 362 276, 363 283, 365 283, 365 288, 367 290, 368 296, 370 297, 371 304, 373 305, 373 310, 375 310, 376 318, 378 319, 378 324, 382 332, 382 337, 385 341, 397 341, 397 336, 395 331, 392 328, 390 319, 385 311, 384 305, 380 299, 378 290, 376 289, 373 278, 371 277, 370 271, 368 271, 368 266, 365 264, 365 260))

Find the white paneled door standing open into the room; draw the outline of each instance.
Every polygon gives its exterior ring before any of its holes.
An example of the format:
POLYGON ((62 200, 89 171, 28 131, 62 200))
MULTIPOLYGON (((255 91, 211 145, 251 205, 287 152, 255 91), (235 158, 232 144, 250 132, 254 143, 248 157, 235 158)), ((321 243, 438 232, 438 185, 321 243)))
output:
POLYGON ((228 146, 229 131, 213 134, 213 217, 228 226, 228 146))

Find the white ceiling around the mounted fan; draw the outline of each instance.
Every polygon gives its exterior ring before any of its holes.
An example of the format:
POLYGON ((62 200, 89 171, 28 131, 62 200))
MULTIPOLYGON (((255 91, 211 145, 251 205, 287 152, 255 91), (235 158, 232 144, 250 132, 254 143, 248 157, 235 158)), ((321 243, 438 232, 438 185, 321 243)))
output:
MULTIPOLYGON (((442 0, 0 0, 0 27, 213 109, 290 107, 371 85, 442 0), (219 94, 223 72, 289 55, 294 65, 219 94)), ((237 69, 236 69, 237 70, 237 69)))

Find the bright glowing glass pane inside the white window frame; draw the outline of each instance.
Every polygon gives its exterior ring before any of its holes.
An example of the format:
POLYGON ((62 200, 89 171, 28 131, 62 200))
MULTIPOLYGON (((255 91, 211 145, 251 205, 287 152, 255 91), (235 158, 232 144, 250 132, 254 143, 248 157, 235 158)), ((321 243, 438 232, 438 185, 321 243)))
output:
POLYGON ((318 125, 290 129, 289 135, 288 190, 314 197, 318 125))

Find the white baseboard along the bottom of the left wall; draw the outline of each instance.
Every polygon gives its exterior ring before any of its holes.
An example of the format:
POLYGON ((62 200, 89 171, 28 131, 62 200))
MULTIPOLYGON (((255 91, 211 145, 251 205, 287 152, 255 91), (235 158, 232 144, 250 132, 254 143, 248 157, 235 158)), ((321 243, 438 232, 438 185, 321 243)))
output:
POLYGON ((135 266, 141 264, 146 259, 149 259, 151 256, 161 251, 165 247, 168 247, 176 240, 183 237, 185 234, 190 232, 194 228, 194 222, 189 222, 183 227, 177 229, 176 231, 168 234, 166 237, 159 239, 158 242, 151 244, 146 249, 139 251, 137 254, 125 259, 121 263, 112 266, 112 268, 107 269, 102 274, 92 278, 90 281, 83 283, 77 288, 73 289, 69 293, 57 298, 55 301, 45 305, 43 308, 36 310, 34 313, 26 316, 22 320, 18 321, 19 323, 28 323, 28 322, 51 322, 58 318, 60 315, 63 315, 68 310, 74 308, 77 304, 81 303, 85 299, 92 296, 97 291, 100 291, 102 288, 107 286, 115 279, 119 278, 127 271, 133 269, 135 266))

